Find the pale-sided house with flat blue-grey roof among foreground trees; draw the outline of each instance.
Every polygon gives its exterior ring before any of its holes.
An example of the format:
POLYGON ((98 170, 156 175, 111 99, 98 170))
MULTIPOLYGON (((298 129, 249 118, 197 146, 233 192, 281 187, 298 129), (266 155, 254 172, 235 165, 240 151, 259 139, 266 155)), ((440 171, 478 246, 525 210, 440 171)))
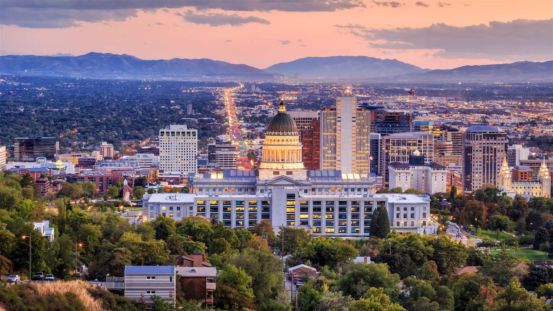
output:
POLYGON ((152 296, 175 299, 175 266, 125 266, 125 297, 153 303, 152 296))

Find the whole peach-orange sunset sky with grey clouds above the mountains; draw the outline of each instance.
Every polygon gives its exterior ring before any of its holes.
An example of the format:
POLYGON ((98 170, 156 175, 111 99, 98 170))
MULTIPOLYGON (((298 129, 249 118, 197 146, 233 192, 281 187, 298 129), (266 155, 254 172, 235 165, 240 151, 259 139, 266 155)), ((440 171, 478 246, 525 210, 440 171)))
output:
POLYGON ((257 68, 336 55, 430 69, 547 61, 553 1, 0 1, 2 55, 91 51, 257 68))

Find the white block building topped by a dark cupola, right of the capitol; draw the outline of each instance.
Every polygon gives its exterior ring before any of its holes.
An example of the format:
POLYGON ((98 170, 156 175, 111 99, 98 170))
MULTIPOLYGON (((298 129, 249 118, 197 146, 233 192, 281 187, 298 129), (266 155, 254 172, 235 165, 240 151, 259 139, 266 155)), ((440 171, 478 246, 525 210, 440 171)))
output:
MULTIPOLYGON (((414 156, 420 156, 419 151, 413 152, 414 156)), ((408 163, 392 162, 388 165, 389 187, 401 187, 415 189, 422 193, 434 194, 447 192, 447 169, 435 162, 419 163, 411 157, 408 163)), ((421 159, 422 160, 422 159, 421 159)))

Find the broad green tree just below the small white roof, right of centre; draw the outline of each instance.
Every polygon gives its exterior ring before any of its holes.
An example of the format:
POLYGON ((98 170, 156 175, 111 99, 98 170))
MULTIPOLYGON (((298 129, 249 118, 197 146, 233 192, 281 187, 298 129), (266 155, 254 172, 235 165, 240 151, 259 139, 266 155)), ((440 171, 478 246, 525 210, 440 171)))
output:
POLYGON ((387 264, 360 262, 349 265, 349 271, 338 280, 338 287, 358 299, 371 287, 391 289, 398 282, 399 275, 390 273, 387 264))

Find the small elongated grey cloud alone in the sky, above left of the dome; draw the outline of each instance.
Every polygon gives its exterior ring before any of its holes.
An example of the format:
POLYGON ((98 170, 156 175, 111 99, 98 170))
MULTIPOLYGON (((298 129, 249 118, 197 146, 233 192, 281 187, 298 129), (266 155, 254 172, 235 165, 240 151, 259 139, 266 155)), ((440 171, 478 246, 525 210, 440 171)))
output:
POLYGON ((176 13, 186 20, 186 22, 195 23, 195 24, 208 24, 211 26, 242 26, 243 24, 248 23, 259 23, 263 25, 269 25, 267 19, 255 17, 255 16, 242 16, 237 13, 234 14, 225 14, 225 13, 205 13, 199 14, 194 13, 192 10, 187 10, 184 13, 176 13))

